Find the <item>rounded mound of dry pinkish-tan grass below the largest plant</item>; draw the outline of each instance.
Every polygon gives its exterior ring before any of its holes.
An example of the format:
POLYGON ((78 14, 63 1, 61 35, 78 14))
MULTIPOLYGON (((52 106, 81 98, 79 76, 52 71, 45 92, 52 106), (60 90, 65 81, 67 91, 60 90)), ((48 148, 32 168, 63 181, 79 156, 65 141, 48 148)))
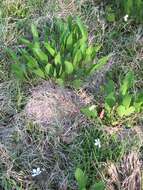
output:
POLYGON ((74 91, 45 82, 32 90, 25 114, 29 120, 44 127, 66 127, 80 115, 85 102, 74 91))

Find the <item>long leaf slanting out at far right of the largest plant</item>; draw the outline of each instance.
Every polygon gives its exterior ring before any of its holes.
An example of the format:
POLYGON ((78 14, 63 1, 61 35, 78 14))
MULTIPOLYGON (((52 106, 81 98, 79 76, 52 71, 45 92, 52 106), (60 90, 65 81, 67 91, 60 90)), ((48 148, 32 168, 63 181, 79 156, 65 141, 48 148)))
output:
POLYGON ((103 67, 108 62, 109 58, 110 58, 110 55, 100 58, 96 64, 94 64, 90 67, 88 73, 93 74, 96 70, 103 67))

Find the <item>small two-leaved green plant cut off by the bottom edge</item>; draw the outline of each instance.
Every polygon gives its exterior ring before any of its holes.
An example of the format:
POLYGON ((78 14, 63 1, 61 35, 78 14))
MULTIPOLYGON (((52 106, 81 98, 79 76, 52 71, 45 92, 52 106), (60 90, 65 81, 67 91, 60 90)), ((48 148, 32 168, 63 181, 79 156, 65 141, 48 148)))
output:
MULTIPOLYGON (((76 169, 75 178, 78 183, 79 190, 86 190, 88 178, 80 168, 76 169)), ((104 190, 105 189, 104 183, 100 181, 92 185, 89 189, 90 190, 104 190)))

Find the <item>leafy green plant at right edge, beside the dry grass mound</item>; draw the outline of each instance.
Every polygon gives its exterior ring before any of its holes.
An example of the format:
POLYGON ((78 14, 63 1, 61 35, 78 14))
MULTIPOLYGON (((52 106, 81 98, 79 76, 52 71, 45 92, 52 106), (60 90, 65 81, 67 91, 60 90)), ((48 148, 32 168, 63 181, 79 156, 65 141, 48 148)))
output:
MULTIPOLYGON (((105 123, 112 125, 123 123, 133 114, 136 116, 143 110, 143 93, 139 92, 137 95, 131 93, 133 83, 134 74, 131 71, 121 81, 119 91, 116 90, 114 81, 109 80, 104 87, 105 99, 101 108, 92 105, 81 111, 90 118, 99 116, 105 123)), ((135 119, 134 116, 133 119, 135 119)))

